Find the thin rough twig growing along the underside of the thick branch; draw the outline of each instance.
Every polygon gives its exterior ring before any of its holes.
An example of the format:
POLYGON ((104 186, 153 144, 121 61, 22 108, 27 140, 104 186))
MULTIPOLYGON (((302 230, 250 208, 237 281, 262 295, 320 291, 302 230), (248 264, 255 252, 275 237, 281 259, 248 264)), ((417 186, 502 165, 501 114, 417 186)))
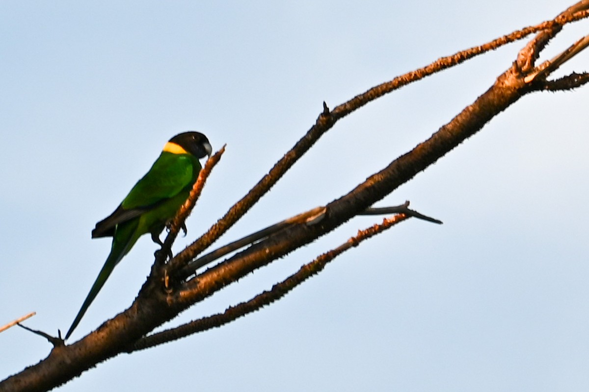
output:
POLYGON ((263 293, 258 294, 257 296, 253 297, 247 302, 242 302, 240 304, 237 304, 236 306, 229 307, 229 309, 224 311, 224 313, 218 313, 213 314, 212 316, 203 317, 202 319, 190 321, 189 323, 183 324, 179 327, 161 331, 153 335, 139 339, 135 341, 133 346, 130 349, 128 349, 127 352, 132 353, 133 351, 148 349, 149 347, 167 343, 168 341, 177 340, 181 337, 185 337, 193 333, 209 330, 214 327, 220 327, 223 324, 230 323, 231 321, 236 320, 239 317, 245 316, 248 313, 252 313, 253 311, 259 310, 263 306, 266 306, 276 300, 279 300, 287 293, 292 291, 294 287, 299 286, 299 284, 309 279, 309 277, 321 272, 327 263, 335 259, 335 257, 339 256, 346 250, 358 246, 360 242, 367 240, 370 237, 375 236, 376 234, 382 233, 386 229, 389 229, 393 225, 396 225, 396 223, 402 222, 403 220, 408 218, 408 215, 399 214, 391 218, 383 219, 383 222, 380 223, 380 225, 376 224, 368 227, 365 230, 358 230, 358 234, 356 234, 356 236, 351 237, 350 239, 348 239, 348 241, 336 247, 335 249, 323 253, 312 262, 300 267, 299 271, 297 271, 296 273, 287 277, 282 282, 274 284, 271 290, 264 291, 263 293))

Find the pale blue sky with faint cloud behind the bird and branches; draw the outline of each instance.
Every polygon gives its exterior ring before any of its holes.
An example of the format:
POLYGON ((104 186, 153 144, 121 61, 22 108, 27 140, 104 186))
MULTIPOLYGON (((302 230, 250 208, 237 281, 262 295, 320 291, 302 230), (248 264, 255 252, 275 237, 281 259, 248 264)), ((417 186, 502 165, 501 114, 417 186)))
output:
MULTIPOLYGON (((178 250, 306 132, 323 100, 336 106, 571 4, 0 2, 0 324, 37 311, 28 326, 67 330, 110 247, 92 227, 174 134, 227 143, 178 250)), ((522 45, 342 120, 222 241, 348 192, 472 103, 522 45)), ((583 53, 558 75, 588 65, 583 53)), ((403 223, 262 311, 118 356, 59 390, 587 390, 588 103, 586 87, 527 96, 380 203, 411 200, 444 225, 403 223)), ((171 325, 250 299, 379 220, 352 220, 171 325)), ((72 341, 131 303, 154 250, 140 240, 72 341)), ((5 331, 0 378, 50 348, 5 331)))

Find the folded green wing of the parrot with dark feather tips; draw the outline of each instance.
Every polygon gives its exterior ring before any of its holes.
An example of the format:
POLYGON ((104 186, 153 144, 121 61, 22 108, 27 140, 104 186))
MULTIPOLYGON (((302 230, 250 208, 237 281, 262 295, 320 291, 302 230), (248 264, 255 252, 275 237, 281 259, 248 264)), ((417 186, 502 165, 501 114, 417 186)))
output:
POLYGON ((158 206, 159 203, 178 195, 194 182, 194 176, 198 170, 200 170, 200 163, 198 160, 191 159, 190 156, 161 153, 121 205, 110 216, 96 224, 92 230, 92 238, 112 236, 115 226, 128 222, 158 206), (195 165, 198 167, 194 167, 195 165), (197 169, 196 173, 194 169, 197 169))

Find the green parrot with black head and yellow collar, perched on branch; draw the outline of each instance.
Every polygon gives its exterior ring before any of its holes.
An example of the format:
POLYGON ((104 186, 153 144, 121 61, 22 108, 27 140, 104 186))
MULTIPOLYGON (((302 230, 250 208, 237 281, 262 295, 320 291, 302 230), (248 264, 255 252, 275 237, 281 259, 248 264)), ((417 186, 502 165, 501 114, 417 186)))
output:
POLYGON ((209 139, 200 132, 184 132, 174 136, 164 145, 151 169, 135 184, 117 209, 96 224, 92 238, 112 237, 111 252, 65 339, 80 323, 114 266, 131 250, 140 236, 150 233, 155 243, 162 244, 159 234, 186 202, 196 182, 201 169, 198 159, 210 156, 211 152, 209 139))

